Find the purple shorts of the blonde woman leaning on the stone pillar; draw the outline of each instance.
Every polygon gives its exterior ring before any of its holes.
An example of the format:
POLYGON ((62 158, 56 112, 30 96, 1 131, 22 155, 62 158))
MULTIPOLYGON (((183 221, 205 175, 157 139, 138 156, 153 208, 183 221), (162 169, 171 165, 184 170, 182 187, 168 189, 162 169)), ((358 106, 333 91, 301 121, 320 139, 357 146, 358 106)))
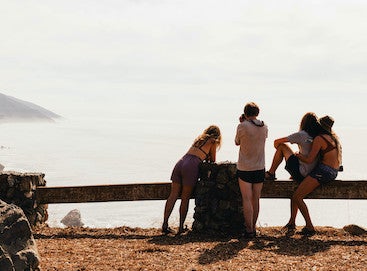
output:
POLYGON ((195 186, 199 178, 199 164, 201 159, 195 155, 185 154, 172 171, 172 182, 187 186, 195 186))

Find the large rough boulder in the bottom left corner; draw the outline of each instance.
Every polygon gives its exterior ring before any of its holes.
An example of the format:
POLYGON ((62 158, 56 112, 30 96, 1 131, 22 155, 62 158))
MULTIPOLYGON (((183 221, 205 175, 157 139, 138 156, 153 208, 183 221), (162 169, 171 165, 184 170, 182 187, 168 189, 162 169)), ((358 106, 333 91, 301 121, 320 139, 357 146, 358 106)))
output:
POLYGON ((0 200, 0 270, 39 270, 40 257, 22 209, 0 200))

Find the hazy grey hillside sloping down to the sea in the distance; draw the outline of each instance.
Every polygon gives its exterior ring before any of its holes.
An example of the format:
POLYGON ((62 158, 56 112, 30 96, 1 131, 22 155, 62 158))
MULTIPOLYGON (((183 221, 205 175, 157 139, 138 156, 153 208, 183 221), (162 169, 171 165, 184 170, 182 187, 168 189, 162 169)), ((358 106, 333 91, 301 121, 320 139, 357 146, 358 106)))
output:
POLYGON ((36 104, 0 93, 0 122, 54 121, 59 115, 36 104))

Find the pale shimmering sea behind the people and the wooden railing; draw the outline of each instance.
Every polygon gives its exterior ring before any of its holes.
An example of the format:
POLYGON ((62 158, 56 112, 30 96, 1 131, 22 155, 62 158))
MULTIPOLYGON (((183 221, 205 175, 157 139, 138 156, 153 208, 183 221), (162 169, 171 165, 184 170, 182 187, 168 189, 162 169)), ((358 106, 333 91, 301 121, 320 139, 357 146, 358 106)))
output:
MULTIPOLYGON (((63 118, 55 123, 2 123, 0 163, 5 170, 43 172, 50 187, 169 182, 176 161, 210 124, 217 124, 223 134, 217 162, 236 162, 238 147, 234 145, 234 136, 238 117, 246 102, 255 101, 261 109, 259 118, 269 126, 266 168, 274 154, 274 139, 297 131, 303 114, 313 111, 335 118, 334 129, 342 142, 344 165, 338 179, 366 180, 367 122, 363 101, 367 95, 339 91, 308 97, 307 93, 131 91, 102 104, 96 102, 78 110, 56 112, 63 118)), ((277 177, 289 178, 284 164, 277 177)), ((367 225, 365 200, 306 200, 306 203, 315 225, 367 225)), ((87 227, 160 227, 164 204, 164 201, 50 204, 48 224, 63 226, 60 220, 72 209, 78 209, 87 227)), ((178 224, 178 205, 179 202, 172 213, 172 226, 178 224)), ((261 199, 260 208, 259 226, 284 225, 288 220, 288 199, 261 199)), ((191 201, 189 225, 193 213, 194 201, 191 201)), ((304 224, 301 215, 297 223, 304 224)))

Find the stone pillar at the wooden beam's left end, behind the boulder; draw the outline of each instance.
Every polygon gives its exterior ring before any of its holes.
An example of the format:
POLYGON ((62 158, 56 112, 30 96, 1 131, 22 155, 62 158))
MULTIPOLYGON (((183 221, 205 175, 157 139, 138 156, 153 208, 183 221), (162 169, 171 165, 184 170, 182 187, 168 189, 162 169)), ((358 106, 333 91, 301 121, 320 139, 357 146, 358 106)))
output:
POLYGON ((37 204, 36 188, 46 186, 43 173, 0 172, 0 199, 19 206, 32 227, 48 218, 47 205, 37 204))

